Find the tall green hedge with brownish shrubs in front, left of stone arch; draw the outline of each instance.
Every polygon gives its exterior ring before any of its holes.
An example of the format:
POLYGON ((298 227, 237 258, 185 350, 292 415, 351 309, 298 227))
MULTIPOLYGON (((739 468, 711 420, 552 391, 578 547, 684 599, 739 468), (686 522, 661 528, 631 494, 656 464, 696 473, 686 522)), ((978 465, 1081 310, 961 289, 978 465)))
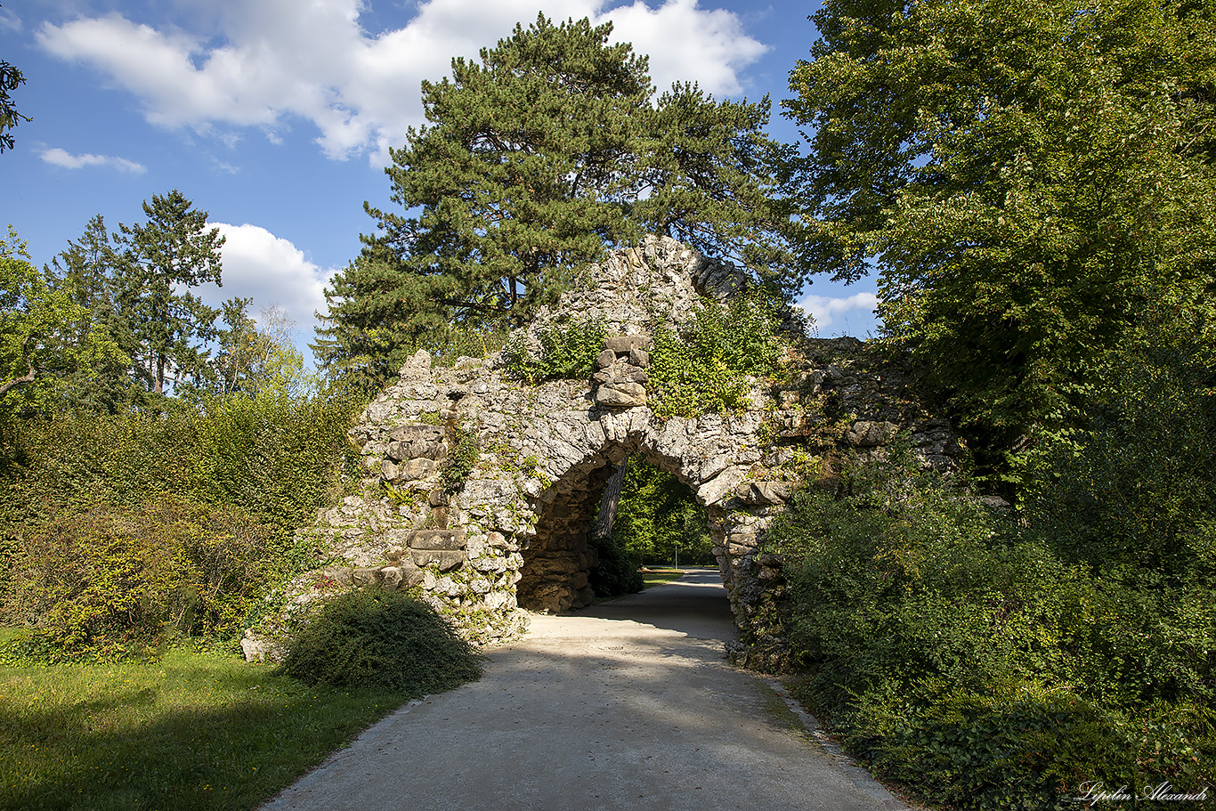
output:
POLYGON ((207 411, 22 423, 0 446, 5 615, 95 655, 232 635, 270 585, 314 563, 294 530, 339 490, 360 405, 265 390, 207 411))

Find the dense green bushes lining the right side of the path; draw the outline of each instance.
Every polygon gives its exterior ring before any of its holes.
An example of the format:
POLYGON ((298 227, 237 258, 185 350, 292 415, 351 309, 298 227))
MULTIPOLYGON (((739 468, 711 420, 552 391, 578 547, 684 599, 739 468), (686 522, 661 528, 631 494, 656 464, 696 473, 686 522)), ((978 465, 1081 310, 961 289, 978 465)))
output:
POLYGON ((1111 578, 1058 554, 1052 525, 900 467, 862 467, 848 497, 799 494, 770 539, 801 693, 848 744, 959 809, 1073 807, 1087 781, 1210 784, 1211 588, 1111 578))

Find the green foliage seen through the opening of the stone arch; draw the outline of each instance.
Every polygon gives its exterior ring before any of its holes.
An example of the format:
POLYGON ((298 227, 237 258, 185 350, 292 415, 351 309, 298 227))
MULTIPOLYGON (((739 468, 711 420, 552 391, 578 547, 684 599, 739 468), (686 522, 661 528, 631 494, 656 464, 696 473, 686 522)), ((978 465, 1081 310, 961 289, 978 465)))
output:
POLYGON ((672 474, 640 456, 629 460, 612 536, 646 565, 713 565, 705 508, 672 474))

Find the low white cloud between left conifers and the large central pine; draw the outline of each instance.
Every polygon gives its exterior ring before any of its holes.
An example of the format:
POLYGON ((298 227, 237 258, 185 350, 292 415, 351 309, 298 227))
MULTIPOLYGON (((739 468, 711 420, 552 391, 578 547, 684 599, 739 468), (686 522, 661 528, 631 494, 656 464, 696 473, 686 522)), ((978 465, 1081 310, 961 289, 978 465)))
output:
MULTIPOLYGON (((224 237, 224 286, 203 286, 203 300, 218 306, 230 298, 252 298, 254 308, 277 306, 295 321, 299 336, 310 338, 316 326, 313 314, 326 309, 323 288, 333 271, 319 267, 289 241, 257 225, 208 225, 224 237)), ((250 315, 257 317, 258 312, 250 315)), ((304 356, 309 356, 306 349, 304 356)))

